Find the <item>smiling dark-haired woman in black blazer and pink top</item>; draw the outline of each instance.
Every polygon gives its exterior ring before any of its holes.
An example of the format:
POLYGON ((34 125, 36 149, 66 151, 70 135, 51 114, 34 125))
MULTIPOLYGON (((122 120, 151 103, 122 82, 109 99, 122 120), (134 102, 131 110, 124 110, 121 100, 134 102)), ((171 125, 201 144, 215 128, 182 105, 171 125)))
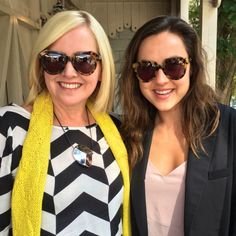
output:
POLYGON ((145 23, 127 48, 134 236, 236 235, 236 111, 217 103, 204 55, 194 29, 172 16, 145 23))

